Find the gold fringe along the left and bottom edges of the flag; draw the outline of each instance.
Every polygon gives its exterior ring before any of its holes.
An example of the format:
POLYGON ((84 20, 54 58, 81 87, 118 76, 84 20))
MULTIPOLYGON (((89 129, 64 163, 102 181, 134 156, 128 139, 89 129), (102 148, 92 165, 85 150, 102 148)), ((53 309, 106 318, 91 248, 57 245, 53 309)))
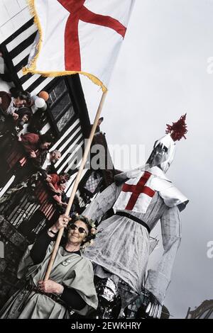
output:
POLYGON ((36 61, 38 59, 38 55, 40 53, 40 49, 41 49, 41 45, 42 45, 42 28, 40 26, 40 21, 38 18, 38 14, 36 12, 35 9, 35 0, 27 0, 28 3, 28 7, 30 9, 31 15, 34 16, 34 23, 35 26, 37 26, 38 28, 38 33, 39 33, 39 42, 38 45, 36 46, 37 48, 37 53, 35 55, 35 57, 33 57, 33 60, 31 60, 31 64, 29 65, 29 67, 23 67, 22 72, 23 75, 26 75, 28 73, 30 74, 40 74, 43 77, 62 77, 65 75, 73 75, 73 74, 82 74, 85 77, 88 77, 94 84, 97 84, 97 86, 101 86, 102 91, 106 92, 107 91, 107 87, 104 86, 104 84, 102 83, 102 81, 100 81, 97 77, 95 77, 92 74, 89 74, 87 72, 78 72, 78 71, 63 71, 63 72, 43 72, 43 71, 37 71, 36 70, 36 61))

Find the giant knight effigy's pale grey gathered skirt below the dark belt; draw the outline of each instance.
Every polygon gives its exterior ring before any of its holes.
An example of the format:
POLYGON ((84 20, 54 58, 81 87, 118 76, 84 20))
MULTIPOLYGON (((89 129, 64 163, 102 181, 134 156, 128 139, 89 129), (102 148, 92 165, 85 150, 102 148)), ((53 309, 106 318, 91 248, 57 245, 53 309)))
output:
POLYGON ((98 230, 102 232, 84 252, 94 264, 94 273, 113 280, 116 275, 133 292, 141 293, 150 247, 146 228, 129 218, 113 215, 98 230))

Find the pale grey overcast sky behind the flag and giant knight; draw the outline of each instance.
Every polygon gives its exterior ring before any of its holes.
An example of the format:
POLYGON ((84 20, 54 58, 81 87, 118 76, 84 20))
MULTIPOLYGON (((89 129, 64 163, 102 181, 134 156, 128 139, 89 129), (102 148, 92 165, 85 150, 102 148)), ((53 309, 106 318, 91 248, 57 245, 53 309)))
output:
MULTIPOLYGON (((212 0, 136 0, 102 114, 109 145, 144 145, 147 158, 165 124, 187 112, 187 140, 178 142, 167 174, 190 199, 165 299, 179 318, 213 299, 213 259, 207 258, 213 240, 212 14, 212 0)), ((82 84, 92 120, 102 91, 87 78, 82 84)))

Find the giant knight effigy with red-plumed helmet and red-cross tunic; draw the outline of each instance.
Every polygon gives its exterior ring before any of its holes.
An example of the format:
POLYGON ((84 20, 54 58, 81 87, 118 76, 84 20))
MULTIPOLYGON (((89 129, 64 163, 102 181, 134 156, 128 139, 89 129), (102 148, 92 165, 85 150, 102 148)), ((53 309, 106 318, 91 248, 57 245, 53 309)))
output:
POLYGON ((188 200, 165 176, 175 156, 175 142, 185 137, 186 115, 167 125, 166 135, 155 142, 145 166, 121 173, 84 210, 99 219, 110 208, 114 215, 103 220, 99 237, 84 256, 94 264, 99 314, 121 317, 124 308, 141 295, 145 287, 149 317, 158 317, 175 256, 180 245, 180 211, 188 200), (163 255, 155 269, 146 269, 150 254, 150 232, 160 220, 163 255), (119 315, 120 314, 120 315, 119 315))

